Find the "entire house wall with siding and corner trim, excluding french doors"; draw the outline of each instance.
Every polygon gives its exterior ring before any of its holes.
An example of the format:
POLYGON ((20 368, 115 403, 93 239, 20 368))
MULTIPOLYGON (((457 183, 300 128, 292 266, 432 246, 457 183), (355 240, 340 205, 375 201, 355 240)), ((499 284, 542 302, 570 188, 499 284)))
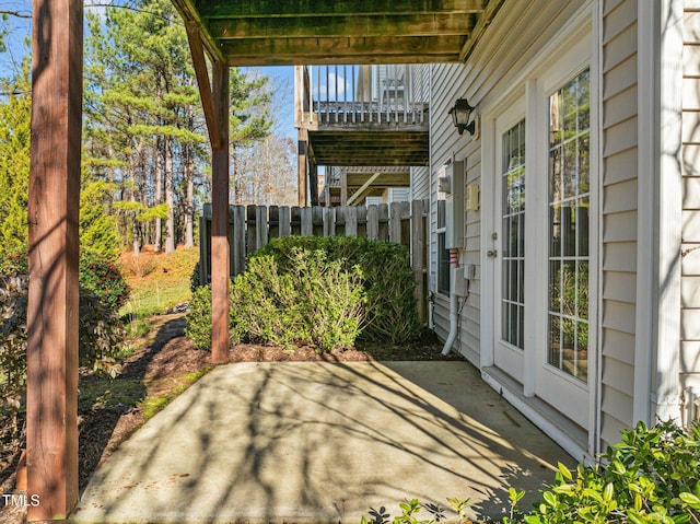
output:
MULTIPOLYGON (((485 379, 493 379, 492 385, 500 381, 512 386, 509 377, 490 371, 498 338, 490 317, 498 299, 491 296, 494 273, 486 252, 499 231, 499 219, 488 218, 498 168, 495 121, 508 107, 538 103, 532 98, 536 79, 546 74, 557 54, 556 43, 567 42, 567 32, 576 31, 586 10, 595 65, 591 68, 596 126, 591 228, 596 247, 590 290, 595 303, 594 368, 588 379, 587 444, 576 447, 574 442, 567 449, 591 457, 638 420, 653 423, 657 417, 680 416, 687 421, 700 416, 700 407, 691 406, 700 398, 700 0, 506 2, 466 65, 432 67, 431 166, 428 173, 417 172, 415 190, 423 195, 430 182, 432 321, 445 339, 448 299, 436 292, 438 173, 451 160, 465 160, 466 184, 481 188, 479 210, 465 213, 459 258, 477 270, 468 296, 458 303, 456 343, 485 371, 485 379), (681 63, 680 49, 682 75, 675 72, 681 63), (457 98, 467 98, 483 117, 474 137, 459 136, 452 125, 448 110, 457 98)), ((529 109, 526 114, 528 119, 536 115, 529 109)), ((533 125, 541 128, 544 123, 533 125)), ((542 282, 530 286, 541 288, 542 282)), ((547 292, 546 286, 540 292, 547 292)), ((510 398, 524 412, 537 400, 529 400, 537 395, 528 386, 536 374, 529 373, 528 379, 524 371, 520 396, 510 398)), ((530 415, 536 418, 538 409, 530 415)), ((540 419, 542 423, 549 416, 540 419)), ((565 440, 567 430, 560 435, 565 440)))

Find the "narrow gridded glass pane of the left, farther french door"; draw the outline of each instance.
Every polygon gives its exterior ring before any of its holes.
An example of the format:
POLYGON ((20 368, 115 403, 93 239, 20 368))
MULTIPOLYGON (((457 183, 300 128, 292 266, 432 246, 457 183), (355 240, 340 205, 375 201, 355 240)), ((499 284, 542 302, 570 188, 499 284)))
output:
POLYGON ((502 136, 501 338, 523 349, 525 296, 525 120, 502 136))

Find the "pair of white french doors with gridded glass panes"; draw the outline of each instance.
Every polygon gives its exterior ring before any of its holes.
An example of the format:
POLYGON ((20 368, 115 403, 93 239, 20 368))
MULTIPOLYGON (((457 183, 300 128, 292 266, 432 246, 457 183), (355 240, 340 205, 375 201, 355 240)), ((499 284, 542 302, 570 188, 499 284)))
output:
POLYGON ((528 108, 546 133, 524 103, 495 119, 493 361, 587 428, 590 72, 551 78, 528 108))

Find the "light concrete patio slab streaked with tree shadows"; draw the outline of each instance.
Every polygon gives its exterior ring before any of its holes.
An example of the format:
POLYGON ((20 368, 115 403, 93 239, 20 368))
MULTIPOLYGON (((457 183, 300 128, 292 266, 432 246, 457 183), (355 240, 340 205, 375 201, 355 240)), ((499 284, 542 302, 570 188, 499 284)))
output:
POLYGON ((237 363, 125 442, 72 521, 359 523, 446 497, 495 517, 557 462, 574 465, 467 362, 237 363))

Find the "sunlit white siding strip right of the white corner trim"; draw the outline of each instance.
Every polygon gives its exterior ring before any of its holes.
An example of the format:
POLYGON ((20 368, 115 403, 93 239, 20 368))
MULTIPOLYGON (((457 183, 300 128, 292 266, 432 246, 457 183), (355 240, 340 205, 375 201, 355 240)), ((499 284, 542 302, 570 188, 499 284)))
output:
POLYGON ((700 416, 700 1, 684 8, 680 373, 692 418, 700 416))

